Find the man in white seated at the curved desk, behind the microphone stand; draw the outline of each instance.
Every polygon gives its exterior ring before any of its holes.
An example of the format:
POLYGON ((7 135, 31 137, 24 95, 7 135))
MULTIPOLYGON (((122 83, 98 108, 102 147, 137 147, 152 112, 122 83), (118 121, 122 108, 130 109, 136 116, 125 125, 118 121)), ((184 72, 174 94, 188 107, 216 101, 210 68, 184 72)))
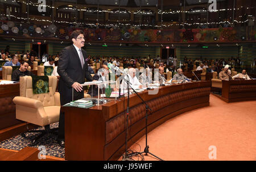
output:
POLYGON ((135 68, 129 68, 128 74, 125 76, 125 78, 122 80, 121 83, 121 89, 125 88, 127 89, 127 81, 130 82, 129 87, 133 87, 134 89, 142 88, 142 84, 139 82, 138 78, 135 76, 136 70, 135 68), (128 79, 129 77, 129 79, 128 79), (126 81, 126 80, 127 81, 126 81))

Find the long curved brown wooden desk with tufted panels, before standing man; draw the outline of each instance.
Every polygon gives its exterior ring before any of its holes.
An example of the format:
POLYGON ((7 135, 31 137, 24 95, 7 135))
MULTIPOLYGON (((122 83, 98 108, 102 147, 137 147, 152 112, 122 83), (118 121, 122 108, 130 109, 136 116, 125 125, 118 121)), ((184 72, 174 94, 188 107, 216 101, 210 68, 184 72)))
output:
MULTIPOLYGON (((139 93, 152 109, 148 131, 178 114, 209 105, 210 81, 159 88, 158 94, 139 93)), ((90 109, 61 107, 65 113, 65 160, 118 160, 125 152, 127 97, 90 109)), ((145 134, 145 106, 130 96, 128 147, 145 134), (131 140, 132 139, 132 140, 131 140)))

